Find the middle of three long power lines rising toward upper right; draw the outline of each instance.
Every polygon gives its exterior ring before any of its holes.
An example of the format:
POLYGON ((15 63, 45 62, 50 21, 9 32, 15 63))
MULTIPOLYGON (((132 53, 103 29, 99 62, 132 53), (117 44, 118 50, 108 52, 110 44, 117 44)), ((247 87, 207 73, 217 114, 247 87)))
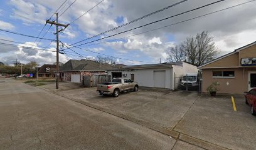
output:
MULTIPOLYGON (((102 38, 96 39, 96 40, 94 40, 94 41, 85 42, 85 43, 79 44, 79 45, 77 45, 77 46, 82 46, 82 45, 85 45, 85 44, 88 44, 88 43, 91 43, 91 42, 100 41, 100 40, 102 40, 102 39, 107 39, 107 38, 112 37, 112 36, 117 36, 117 35, 119 35, 119 34, 122 34, 122 33, 125 33, 125 32, 129 32, 129 31, 132 31, 132 30, 134 30, 134 29, 139 29, 139 28, 141 28, 141 27, 148 26, 148 25, 154 24, 154 23, 156 23, 156 22, 164 21, 164 20, 169 19, 169 18, 171 18, 171 17, 176 17, 176 16, 179 16, 179 15, 181 15, 181 14, 185 14, 185 13, 188 13, 188 12, 191 12, 191 11, 195 11, 195 10, 198 10, 198 9, 201 9, 201 8, 205 8, 206 6, 210 6, 210 5, 216 4, 216 3, 221 2, 221 1, 225 1, 225 0, 220 0, 220 1, 211 2, 210 4, 206 4, 206 5, 204 5, 204 6, 200 6, 199 8, 191 9, 191 10, 189 10, 189 11, 184 11, 184 12, 181 12, 181 13, 179 13, 179 14, 175 14, 175 15, 173 15, 173 16, 166 17, 166 18, 164 18, 164 19, 160 19, 160 20, 157 20, 157 21, 154 21, 154 22, 150 22, 150 23, 148 23, 148 24, 144 24, 144 25, 142 25, 142 26, 134 27, 134 28, 129 29, 129 30, 126 30, 126 31, 122 31, 122 32, 119 32, 119 33, 116 33, 116 34, 112 34, 111 36, 102 37, 102 38)), ((72 45, 69 45, 69 46, 72 46, 72 45)), ((75 46, 72 46, 72 47, 75 47, 75 46)))

